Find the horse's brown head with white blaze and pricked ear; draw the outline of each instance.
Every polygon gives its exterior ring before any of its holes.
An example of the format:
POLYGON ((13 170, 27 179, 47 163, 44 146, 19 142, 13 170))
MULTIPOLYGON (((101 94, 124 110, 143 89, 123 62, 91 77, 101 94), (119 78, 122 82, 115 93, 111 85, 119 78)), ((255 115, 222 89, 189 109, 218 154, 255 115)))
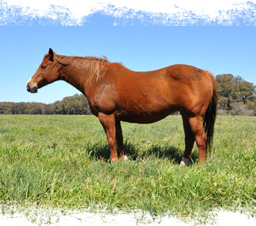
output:
POLYGON ((54 51, 49 49, 49 53, 43 58, 43 62, 37 68, 26 85, 27 91, 36 93, 38 88, 41 88, 49 83, 60 78, 60 66, 54 60, 54 51))

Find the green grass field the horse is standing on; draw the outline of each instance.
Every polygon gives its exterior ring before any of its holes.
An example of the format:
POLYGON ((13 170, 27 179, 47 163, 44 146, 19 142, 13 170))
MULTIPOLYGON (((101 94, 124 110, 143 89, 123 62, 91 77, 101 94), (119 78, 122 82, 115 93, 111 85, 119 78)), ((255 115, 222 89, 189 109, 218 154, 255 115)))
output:
POLYGON ((1 204, 98 210, 143 210, 181 219, 212 210, 256 207, 256 117, 216 120, 213 151, 198 167, 179 167, 180 116, 122 123, 130 161, 110 164, 93 116, 0 115, 1 204))

